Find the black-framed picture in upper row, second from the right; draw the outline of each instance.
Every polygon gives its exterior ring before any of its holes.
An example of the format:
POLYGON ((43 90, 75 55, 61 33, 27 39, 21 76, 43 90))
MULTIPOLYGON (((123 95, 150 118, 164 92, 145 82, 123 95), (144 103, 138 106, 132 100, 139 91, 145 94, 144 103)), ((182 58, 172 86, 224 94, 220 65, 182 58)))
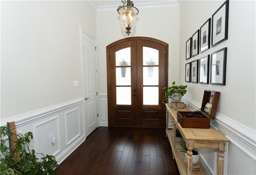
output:
POLYGON ((200 52, 210 49, 211 18, 200 27, 200 52))

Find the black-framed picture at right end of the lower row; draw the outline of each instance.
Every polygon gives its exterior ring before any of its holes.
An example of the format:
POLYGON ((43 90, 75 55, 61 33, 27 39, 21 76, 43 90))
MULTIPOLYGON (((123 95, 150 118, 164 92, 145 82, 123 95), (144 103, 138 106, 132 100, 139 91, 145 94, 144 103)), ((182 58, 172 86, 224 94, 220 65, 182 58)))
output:
POLYGON ((210 84, 226 85, 227 48, 211 54, 211 82, 210 84))

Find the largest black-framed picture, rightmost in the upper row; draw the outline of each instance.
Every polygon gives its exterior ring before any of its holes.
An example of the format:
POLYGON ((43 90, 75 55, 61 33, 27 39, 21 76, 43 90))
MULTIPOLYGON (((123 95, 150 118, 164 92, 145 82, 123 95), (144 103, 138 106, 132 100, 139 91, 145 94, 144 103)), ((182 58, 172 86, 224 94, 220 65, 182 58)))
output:
POLYGON ((228 4, 226 0, 212 15, 212 46, 228 39, 228 4))

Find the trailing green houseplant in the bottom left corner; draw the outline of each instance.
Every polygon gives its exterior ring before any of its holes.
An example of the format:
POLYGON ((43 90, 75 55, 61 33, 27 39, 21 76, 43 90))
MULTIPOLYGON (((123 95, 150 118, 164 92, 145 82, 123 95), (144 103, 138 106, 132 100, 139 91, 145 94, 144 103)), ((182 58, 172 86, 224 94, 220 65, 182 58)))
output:
POLYGON ((29 148, 33 139, 32 132, 25 134, 12 133, 7 127, 0 127, 1 155, 0 175, 56 175, 54 169, 58 166, 53 155, 36 158, 34 149, 29 148), (10 135, 16 135, 16 146, 10 148, 10 135), (9 142, 9 145, 8 145, 9 142), (18 154, 17 154, 18 153, 18 154), (18 156, 17 156, 18 155, 18 156))

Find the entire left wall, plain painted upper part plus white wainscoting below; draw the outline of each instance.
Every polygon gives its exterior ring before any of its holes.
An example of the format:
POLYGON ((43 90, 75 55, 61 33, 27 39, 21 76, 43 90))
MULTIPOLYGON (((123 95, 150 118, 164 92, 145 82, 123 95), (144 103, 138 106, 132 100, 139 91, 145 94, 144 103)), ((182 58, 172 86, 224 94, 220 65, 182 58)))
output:
POLYGON ((85 140, 79 27, 96 36, 96 12, 86 1, 0 3, 1 126, 32 131, 32 149, 61 163, 85 140))

